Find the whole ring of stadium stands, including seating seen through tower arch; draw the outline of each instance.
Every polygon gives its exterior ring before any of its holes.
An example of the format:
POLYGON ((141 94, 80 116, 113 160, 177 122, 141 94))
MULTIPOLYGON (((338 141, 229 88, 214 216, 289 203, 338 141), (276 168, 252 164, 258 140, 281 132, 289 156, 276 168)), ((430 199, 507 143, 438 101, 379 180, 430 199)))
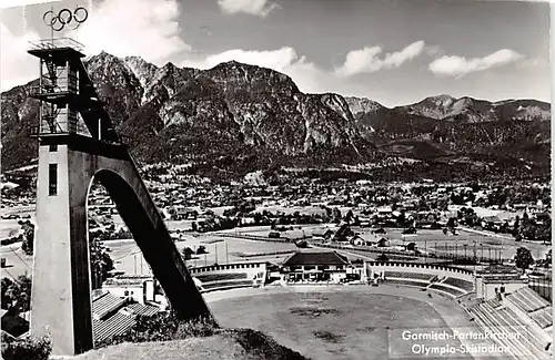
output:
MULTIPOLYGON (((413 287, 444 296, 453 306, 466 311, 463 315, 467 315, 467 320, 473 321, 476 329, 506 336, 494 341, 501 347, 508 347, 514 359, 543 360, 551 354, 553 307, 528 287, 526 278, 514 268, 490 267, 475 271, 470 268, 411 261, 371 260, 353 264, 335 251, 303 250, 279 265, 268 261, 230 263, 190 267, 189 270, 203 294, 264 287, 270 284, 295 286, 295 282, 287 281, 293 272, 295 276, 301 274, 304 278, 306 274, 312 277, 319 271, 327 271, 337 274, 341 279, 356 272, 361 278, 355 284, 413 287), (336 263, 333 264, 333 269, 325 267, 331 264, 325 260, 329 258, 336 263), (296 263, 293 264, 292 259, 296 263), (511 339, 515 335, 517 338, 511 339)), ((94 341, 99 343, 122 335, 137 323, 138 316, 152 316, 162 310, 162 307, 150 301, 155 298, 150 294, 152 289, 150 279, 144 277, 122 277, 107 284, 93 298, 94 341)), ((386 287, 384 291, 387 291, 386 287)))

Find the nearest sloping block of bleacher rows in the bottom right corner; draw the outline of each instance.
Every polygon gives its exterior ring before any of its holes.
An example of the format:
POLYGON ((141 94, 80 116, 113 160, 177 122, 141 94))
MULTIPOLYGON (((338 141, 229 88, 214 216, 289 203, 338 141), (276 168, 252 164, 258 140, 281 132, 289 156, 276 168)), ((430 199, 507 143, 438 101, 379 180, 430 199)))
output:
POLYGON ((492 304, 490 301, 477 304, 470 307, 468 312, 484 330, 506 333, 508 339, 498 338, 497 341, 502 346, 509 347, 516 359, 549 359, 545 351, 547 343, 541 335, 536 333, 509 308, 495 309, 492 304), (516 333, 518 337, 515 337, 516 333))

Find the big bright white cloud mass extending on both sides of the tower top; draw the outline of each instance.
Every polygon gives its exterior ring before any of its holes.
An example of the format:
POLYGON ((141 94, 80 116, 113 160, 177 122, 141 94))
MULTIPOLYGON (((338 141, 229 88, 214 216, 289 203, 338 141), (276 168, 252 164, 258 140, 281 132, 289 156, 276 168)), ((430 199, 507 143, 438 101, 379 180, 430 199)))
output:
MULTIPOLYGON (((91 3, 92 4, 92 3, 91 3)), ((138 55, 163 65, 191 50, 180 35, 180 8, 176 0, 104 0, 92 7, 89 19, 71 37, 90 55, 102 50, 117 56, 138 55)), ((34 32, 14 34, 1 24, 1 84, 6 91, 38 76, 37 59, 29 55, 29 40, 34 32)), ((60 38, 64 37, 63 32, 60 38)))

